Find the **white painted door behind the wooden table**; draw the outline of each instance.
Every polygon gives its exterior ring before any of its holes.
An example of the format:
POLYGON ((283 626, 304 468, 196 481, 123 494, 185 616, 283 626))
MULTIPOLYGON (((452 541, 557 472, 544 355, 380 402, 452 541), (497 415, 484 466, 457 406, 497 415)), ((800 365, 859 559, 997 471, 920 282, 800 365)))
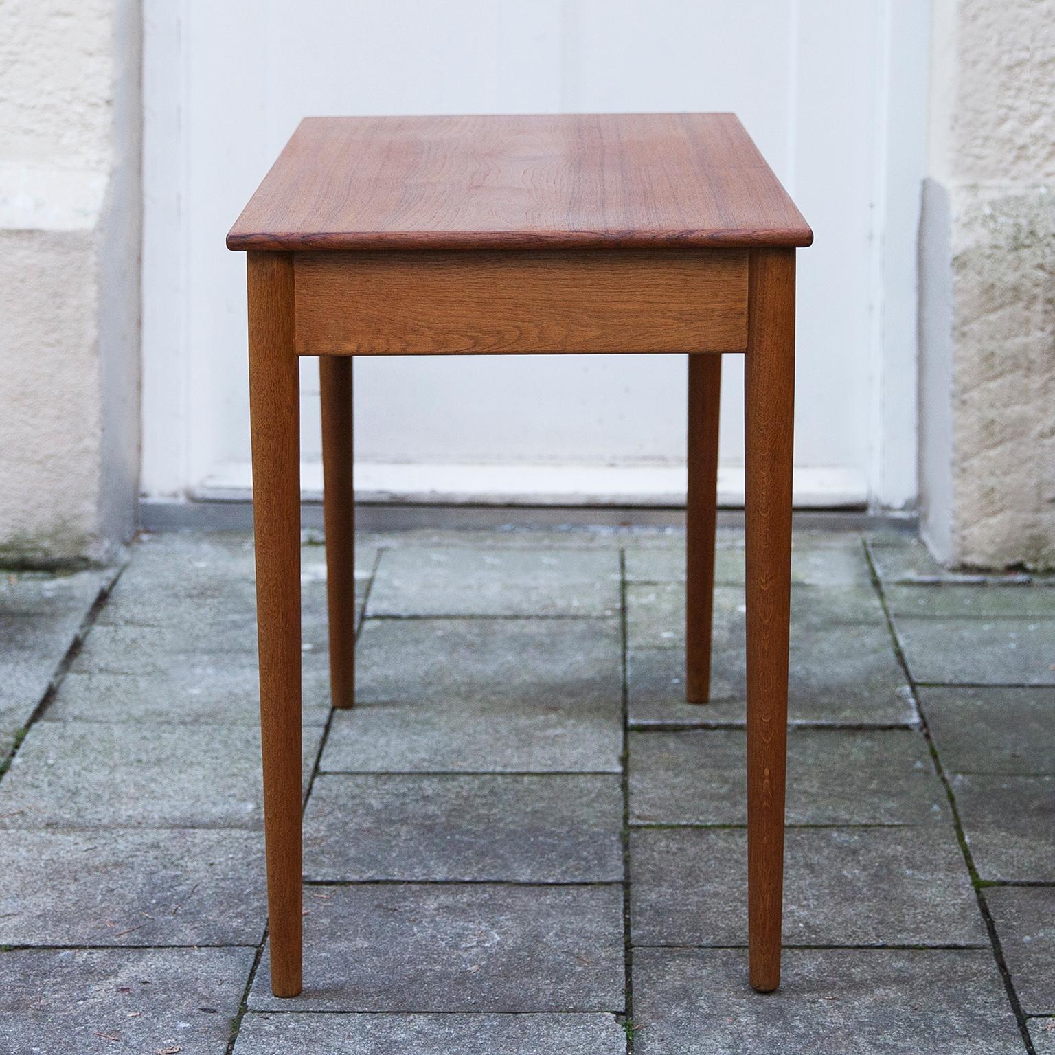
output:
MULTIPOLYGON (((147 0, 143 488, 249 486, 245 261, 224 235, 306 114, 735 111, 811 223, 802 504, 915 495, 922 0, 147 0), (896 61, 895 61, 896 60, 896 61)), ((742 491, 726 357, 722 491, 742 491)), ((318 488, 318 370, 302 370, 318 488)), ((680 356, 356 364, 361 492, 669 499, 680 356)))

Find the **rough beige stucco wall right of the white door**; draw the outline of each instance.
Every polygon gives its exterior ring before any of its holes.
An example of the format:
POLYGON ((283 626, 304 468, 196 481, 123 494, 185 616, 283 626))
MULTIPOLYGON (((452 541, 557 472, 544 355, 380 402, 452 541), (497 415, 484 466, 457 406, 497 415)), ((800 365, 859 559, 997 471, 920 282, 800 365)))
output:
POLYGON ((1055 0, 936 0, 934 15, 924 536, 948 563, 1051 568, 1055 0))

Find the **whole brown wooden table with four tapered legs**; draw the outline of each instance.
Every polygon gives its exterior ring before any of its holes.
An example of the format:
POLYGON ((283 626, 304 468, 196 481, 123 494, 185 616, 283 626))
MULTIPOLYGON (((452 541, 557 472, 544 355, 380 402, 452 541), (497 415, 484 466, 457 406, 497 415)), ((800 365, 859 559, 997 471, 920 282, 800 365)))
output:
POLYGON ((296 130, 227 237, 248 265, 276 996, 301 992, 301 356, 321 357, 332 697, 350 707, 352 357, 688 352, 686 695, 705 704, 721 353, 745 354, 750 981, 778 986, 794 265, 811 241, 732 114, 315 117, 296 130))

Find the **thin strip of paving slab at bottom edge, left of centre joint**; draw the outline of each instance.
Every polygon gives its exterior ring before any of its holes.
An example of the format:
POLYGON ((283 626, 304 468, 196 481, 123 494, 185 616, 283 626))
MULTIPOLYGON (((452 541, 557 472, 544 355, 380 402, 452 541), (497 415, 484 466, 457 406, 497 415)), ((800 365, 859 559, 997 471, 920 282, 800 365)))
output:
POLYGON ((234 1055, 625 1055, 614 1015, 298 1015, 250 1012, 234 1055))

